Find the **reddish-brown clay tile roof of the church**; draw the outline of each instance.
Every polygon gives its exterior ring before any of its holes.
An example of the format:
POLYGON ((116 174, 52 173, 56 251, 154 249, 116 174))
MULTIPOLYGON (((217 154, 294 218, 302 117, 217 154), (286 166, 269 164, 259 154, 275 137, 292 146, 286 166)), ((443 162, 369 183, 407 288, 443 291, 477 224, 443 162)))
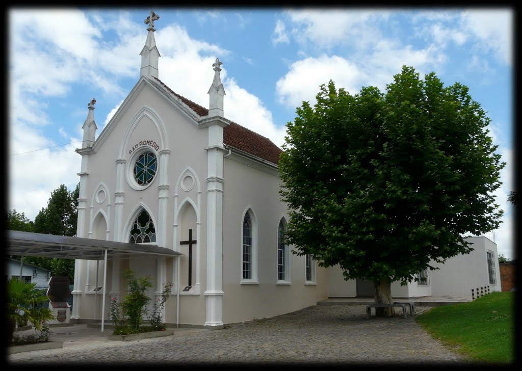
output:
MULTIPOLYGON (((190 109, 193 110, 198 116, 208 115, 208 109, 200 106, 197 103, 194 103, 189 99, 186 99, 180 94, 175 93, 157 77, 154 77, 154 79, 157 80, 171 94, 175 95, 175 97, 181 99, 181 101, 190 107, 190 109)), ((229 119, 227 119, 227 121, 230 122, 230 125, 227 125, 223 128, 224 145, 253 154, 256 157, 276 165, 278 164, 279 154, 282 152, 282 150, 277 147, 270 139, 259 135, 244 126, 236 124, 229 119)))

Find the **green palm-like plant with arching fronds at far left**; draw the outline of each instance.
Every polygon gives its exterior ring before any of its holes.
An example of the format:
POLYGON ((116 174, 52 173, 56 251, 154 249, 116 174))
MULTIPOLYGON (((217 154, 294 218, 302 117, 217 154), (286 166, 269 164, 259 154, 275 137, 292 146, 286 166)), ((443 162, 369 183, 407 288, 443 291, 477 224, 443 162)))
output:
POLYGON ((42 323, 55 319, 48 306, 49 298, 44 290, 37 289, 36 283, 11 279, 7 282, 7 320, 9 321, 10 339, 16 325, 31 324, 36 330, 42 330, 42 323))

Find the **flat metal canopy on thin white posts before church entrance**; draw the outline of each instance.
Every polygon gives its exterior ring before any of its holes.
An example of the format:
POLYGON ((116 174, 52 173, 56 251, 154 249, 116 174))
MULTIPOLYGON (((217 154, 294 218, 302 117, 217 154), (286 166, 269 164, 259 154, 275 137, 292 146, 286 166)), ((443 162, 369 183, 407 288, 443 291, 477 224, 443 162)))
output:
MULTIPOLYGON (((17 256, 40 256, 46 258, 63 259, 86 259, 105 261, 103 265, 103 293, 105 297, 105 287, 107 278, 107 260, 109 257, 134 257, 134 256, 165 256, 177 258, 178 282, 180 274, 180 256, 185 255, 177 251, 146 244, 130 244, 125 242, 114 242, 105 240, 95 240, 93 238, 57 236, 53 234, 7 231, 7 246, 4 249, 5 255, 17 256)), ((20 261, 20 276, 21 266, 20 261)), ((98 277, 98 275, 97 275, 98 277)), ((96 283, 98 286, 98 282, 96 283)), ((98 292, 97 292, 98 295, 98 292)), ((95 302, 96 303, 96 302, 95 302)), ((96 306, 96 304, 95 304, 96 306)), ((177 290, 177 314, 176 324, 179 325, 180 290, 177 290)), ((105 322, 105 300, 102 301, 101 333, 103 334, 105 322)))

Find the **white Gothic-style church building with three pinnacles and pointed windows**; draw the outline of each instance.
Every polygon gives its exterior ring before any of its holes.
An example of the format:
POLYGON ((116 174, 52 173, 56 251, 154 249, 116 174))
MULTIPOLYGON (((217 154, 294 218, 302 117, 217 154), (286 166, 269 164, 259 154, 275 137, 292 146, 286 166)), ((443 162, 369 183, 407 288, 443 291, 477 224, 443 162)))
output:
MULTIPOLYGON (((139 80, 98 137, 96 100, 88 104, 77 149, 77 236, 155 245, 183 255, 121 255, 106 267, 103 261, 76 260, 72 321, 99 320, 103 307, 108 320, 111 298, 126 294, 125 269, 151 278, 153 302, 166 282, 173 284, 164 321, 180 326, 221 328, 328 297, 368 295, 367 282, 344 281, 340 269, 318 267, 284 245, 280 233, 288 211, 279 196, 281 149, 224 116, 218 58, 208 108, 165 86, 154 38, 158 19, 151 12, 145 20, 139 80)), ((424 272, 425 284, 394 283, 392 295, 470 296, 475 286, 490 284, 500 291, 496 245, 485 237, 472 242, 472 254, 424 272)))

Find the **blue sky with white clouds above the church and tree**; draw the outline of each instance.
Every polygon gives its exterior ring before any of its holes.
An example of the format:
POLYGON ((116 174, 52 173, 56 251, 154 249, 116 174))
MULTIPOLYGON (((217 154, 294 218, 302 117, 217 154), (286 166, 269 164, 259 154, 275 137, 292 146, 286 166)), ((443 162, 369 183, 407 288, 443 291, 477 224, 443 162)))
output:
MULTIPOLYGON (((96 98, 97 136, 138 81, 148 8, 16 8, 9 20, 9 209, 34 220, 52 190, 79 182, 81 126, 96 98), (52 148, 53 147, 53 148, 52 148)), ((219 57, 224 115, 281 146, 285 125, 322 83, 357 93, 402 65, 460 82, 488 112, 507 166, 504 210, 488 237, 515 257, 513 10, 510 8, 154 8, 159 78, 208 106, 219 57)))

